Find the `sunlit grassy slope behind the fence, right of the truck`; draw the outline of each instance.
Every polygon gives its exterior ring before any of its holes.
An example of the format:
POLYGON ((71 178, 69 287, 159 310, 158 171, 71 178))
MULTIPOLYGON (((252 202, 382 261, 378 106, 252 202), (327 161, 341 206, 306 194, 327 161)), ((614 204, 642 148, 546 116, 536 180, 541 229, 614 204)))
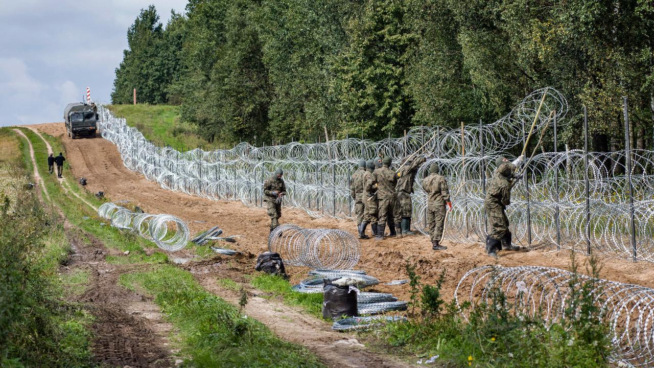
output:
POLYGON ((179 151, 187 147, 217 147, 197 134, 197 128, 180 122, 179 108, 170 105, 108 105, 116 117, 127 119, 129 126, 136 127, 145 138, 158 145, 170 145, 179 151))

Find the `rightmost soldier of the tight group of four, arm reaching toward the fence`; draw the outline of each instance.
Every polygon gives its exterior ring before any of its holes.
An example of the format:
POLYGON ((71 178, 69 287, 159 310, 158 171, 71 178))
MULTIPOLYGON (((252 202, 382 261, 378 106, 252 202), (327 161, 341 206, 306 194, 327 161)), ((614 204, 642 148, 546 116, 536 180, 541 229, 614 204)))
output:
POLYGON ((404 235, 415 235, 415 232, 411 231, 411 214, 413 212, 411 194, 413 193, 415 174, 426 160, 425 156, 407 160, 404 166, 398 170, 398 185, 395 187, 398 200, 394 208, 394 220, 396 224, 400 224, 404 235))

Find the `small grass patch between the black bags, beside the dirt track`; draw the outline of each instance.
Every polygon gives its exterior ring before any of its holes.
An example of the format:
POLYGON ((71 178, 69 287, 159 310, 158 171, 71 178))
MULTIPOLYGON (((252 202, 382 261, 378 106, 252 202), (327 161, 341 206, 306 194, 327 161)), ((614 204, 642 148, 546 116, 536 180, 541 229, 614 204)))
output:
POLYGON ((279 276, 264 273, 254 276, 251 284, 257 289, 283 297, 286 304, 300 306, 313 316, 322 318, 322 293, 297 293, 291 289, 288 281, 279 276))

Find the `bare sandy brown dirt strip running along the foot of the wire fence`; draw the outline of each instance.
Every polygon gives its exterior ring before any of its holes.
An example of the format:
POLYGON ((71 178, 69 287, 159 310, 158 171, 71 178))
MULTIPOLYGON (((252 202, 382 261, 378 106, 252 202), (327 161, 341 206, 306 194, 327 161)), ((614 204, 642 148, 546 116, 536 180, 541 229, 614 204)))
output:
MULTIPOLYGON (((36 126, 42 132, 64 138, 63 123, 41 124, 36 126)), ((171 213, 186 221, 192 231, 208 229, 220 225, 226 234, 240 234, 237 248, 245 251, 247 257, 232 262, 243 272, 254 268, 254 255, 267 250, 269 217, 262 208, 249 208, 241 202, 213 201, 183 193, 162 189, 154 181, 148 181, 141 174, 131 172, 122 163, 116 147, 109 141, 96 139, 63 139, 67 160, 73 175, 88 179, 87 189, 92 192, 104 191, 112 200, 130 200, 150 213, 171 213), (206 221, 196 223, 193 221, 206 221)), ((64 175, 70 175, 65 173, 64 175)), ((337 228, 356 233, 356 225, 351 221, 329 218, 313 219, 300 210, 284 208, 282 223, 296 223, 310 228, 337 228)), ((458 280, 474 267, 495 263, 485 255, 480 244, 453 244, 445 242, 445 251, 432 251, 426 236, 409 236, 401 240, 387 239, 383 242, 363 240, 361 259, 356 268, 366 270, 381 282, 407 278, 404 270, 406 261, 417 264, 417 272, 424 282, 434 282, 441 272, 445 272, 443 293, 453 295, 458 280)), ((539 265, 557 268, 570 268, 570 252, 553 249, 538 249, 528 252, 511 252, 500 255, 497 263, 513 267, 519 265, 539 265)), ((585 261, 583 255, 577 257, 585 261)), ((632 263, 617 259, 600 259, 604 268, 601 276, 609 280, 629 282, 654 287, 654 267, 650 263, 632 263)), ((583 267, 581 268, 583 269, 583 267)), ((292 281, 305 276, 305 268, 289 267, 292 281)), ((402 299, 409 297, 409 285, 378 285, 376 291, 390 292, 402 299)))

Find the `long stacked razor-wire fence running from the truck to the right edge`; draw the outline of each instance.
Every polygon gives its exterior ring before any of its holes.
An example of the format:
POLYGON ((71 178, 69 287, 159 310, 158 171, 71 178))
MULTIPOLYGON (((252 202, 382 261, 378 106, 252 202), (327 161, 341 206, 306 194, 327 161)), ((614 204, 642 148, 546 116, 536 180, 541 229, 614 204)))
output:
MULTIPOLYGON (((485 238, 482 177, 489 183, 495 169, 494 158, 510 156, 506 153, 509 149, 523 147, 543 94, 546 94, 545 100, 530 140, 534 147, 542 134, 551 136, 553 111, 556 111, 558 128, 570 124, 570 119, 566 119, 568 103, 553 88, 532 92, 496 122, 468 125, 463 131, 461 128, 417 126, 404 137, 381 141, 349 138, 269 147, 241 142, 232 149, 213 151, 180 152, 171 147, 157 147, 136 128, 129 127, 125 119, 114 117, 103 105, 98 106, 98 113, 103 138, 116 145, 125 166, 156 181, 164 189, 262 206, 262 183, 279 167, 284 170, 287 188, 284 206, 300 208, 312 217, 353 219, 354 201, 349 195, 349 179, 358 160, 374 158, 381 152, 392 157, 392 168, 398 168, 402 158, 427 143, 424 152, 431 153, 434 158, 425 162, 417 174, 413 226, 424 233, 426 196, 421 180, 428 174, 430 164, 436 162, 449 183, 454 204, 447 217, 445 239, 469 241, 471 237, 485 238), (543 132, 545 129, 549 132, 543 132)), ((526 156, 531 153, 527 151, 526 156)), ((654 261, 654 200, 651 199, 654 151, 632 149, 631 153, 638 259, 654 261)), ((589 156, 593 251, 631 259, 626 153, 592 152, 589 156)), ((532 244, 555 244, 555 213, 558 211, 561 247, 585 251, 584 158, 585 153, 580 150, 534 156, 528 165, 528 175, 513 188, 512 203, 507 210, 515 241, 526 245, 529 210, 532 244), (556 175, 558 191, 554 185, 556 175), (525 181, 529 187, 529 206, 525 181)))

